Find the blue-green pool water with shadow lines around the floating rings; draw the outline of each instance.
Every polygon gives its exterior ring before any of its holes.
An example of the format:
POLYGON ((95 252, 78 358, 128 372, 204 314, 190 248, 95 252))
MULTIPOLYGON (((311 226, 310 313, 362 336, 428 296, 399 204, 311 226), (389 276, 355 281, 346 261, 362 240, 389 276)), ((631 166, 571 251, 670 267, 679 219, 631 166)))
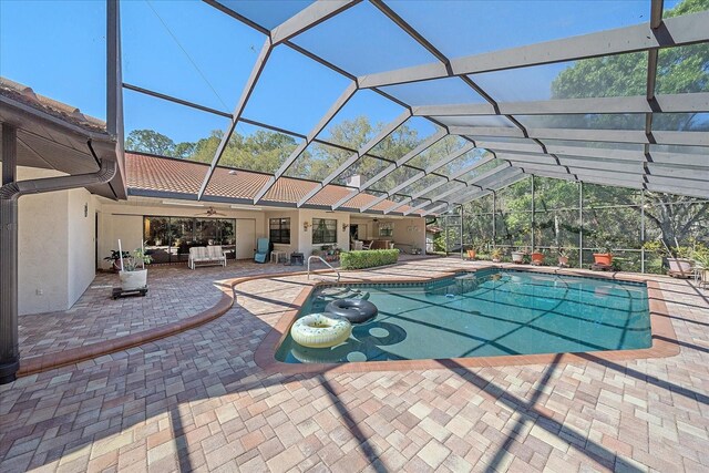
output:
POLYGON ((298 317, 342 297, 366 298, 379 315, 332 348, 305 348, 288 335, 276 359, 338 363, 651 346, 647 287, 637 282, 490 269, 433 282, 318 288, 298 317))

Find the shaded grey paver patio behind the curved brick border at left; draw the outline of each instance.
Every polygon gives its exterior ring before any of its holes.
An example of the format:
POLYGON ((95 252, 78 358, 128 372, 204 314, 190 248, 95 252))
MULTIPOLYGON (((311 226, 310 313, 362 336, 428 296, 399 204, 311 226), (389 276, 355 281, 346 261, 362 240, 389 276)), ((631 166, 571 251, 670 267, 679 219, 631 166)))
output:
POLYGON ((100 273, 70 310, 20 316, 21 356, 38 356, 111 340, 185 319, 222 297, 214 281, 240 276, 301 271, 301 266, 229 261, 195 270, 186 265, 154 266, 145 297, 111 299, 119 275, 100 273))

